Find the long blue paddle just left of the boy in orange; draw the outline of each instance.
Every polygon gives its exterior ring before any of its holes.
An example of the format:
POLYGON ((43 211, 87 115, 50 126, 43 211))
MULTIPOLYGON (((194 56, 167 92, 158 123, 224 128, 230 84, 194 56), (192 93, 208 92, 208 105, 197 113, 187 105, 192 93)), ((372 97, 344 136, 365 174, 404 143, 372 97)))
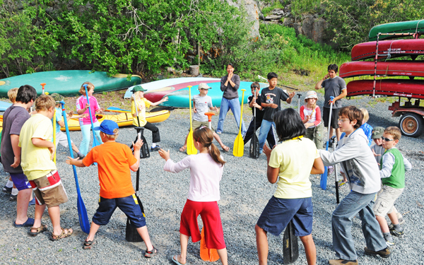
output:
MULTIPOLYGON (((71 136, 69 135, 68 121, 66 120, 65 102, 61 101, 60 104, 62 107, 62 115, 64 117, 64 122, 65 122, 66 137, 68 138, 69 153, 71 154, 71 158, 73 158, 71 136)), ((88 234, 88 232, 90 232, 90 222, 88 222, 86 205, 84 204, 83 198, 81 198, 81 192, 79 189, 78 177, 76 176, 75 165, 72 165, 72 169, 73 169, 73 177, 75 177, 76 193, 78 194, 77 201, 76 201, 76 206, 78 208, 78 218, 80 221, 81 230, 83 230, 84 232, 88 234)))

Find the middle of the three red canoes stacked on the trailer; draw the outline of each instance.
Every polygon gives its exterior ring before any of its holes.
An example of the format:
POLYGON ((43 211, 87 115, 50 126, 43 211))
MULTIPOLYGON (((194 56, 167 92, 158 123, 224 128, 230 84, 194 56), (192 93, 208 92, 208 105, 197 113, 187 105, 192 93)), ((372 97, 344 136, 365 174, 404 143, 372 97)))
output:
MULTIPOLYGON (((341 78, 353 76, 373 76, 374 61, 349 61, 340 66, 341 78)), ((424 77, 424 61, 378 61, 378 76, 418 76, 424 77)))

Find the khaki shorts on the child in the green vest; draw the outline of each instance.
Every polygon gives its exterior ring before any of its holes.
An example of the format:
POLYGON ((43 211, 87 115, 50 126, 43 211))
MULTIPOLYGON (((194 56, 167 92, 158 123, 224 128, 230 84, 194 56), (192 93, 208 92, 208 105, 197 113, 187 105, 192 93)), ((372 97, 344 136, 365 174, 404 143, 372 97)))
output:
POLYGON ((404 192, 404 189, 395 189, 383 185, 382 190, 377 195, 374 204, 374 214, 376 216, 386 216, 391 213, 394 208, 394 201, 404 192))

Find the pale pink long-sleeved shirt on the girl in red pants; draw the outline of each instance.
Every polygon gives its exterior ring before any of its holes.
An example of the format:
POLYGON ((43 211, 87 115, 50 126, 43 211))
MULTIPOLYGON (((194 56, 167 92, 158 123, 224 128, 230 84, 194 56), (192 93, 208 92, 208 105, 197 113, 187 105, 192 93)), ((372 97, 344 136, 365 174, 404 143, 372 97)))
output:
POLYGON ((187 199, 191 201, 219 201, 219 182, 223 177, 223 165, 213 161, 208 153, 187 155, 174 163, 168 159, 163 170, 178 173, 190 169, 190 186, 187 199))

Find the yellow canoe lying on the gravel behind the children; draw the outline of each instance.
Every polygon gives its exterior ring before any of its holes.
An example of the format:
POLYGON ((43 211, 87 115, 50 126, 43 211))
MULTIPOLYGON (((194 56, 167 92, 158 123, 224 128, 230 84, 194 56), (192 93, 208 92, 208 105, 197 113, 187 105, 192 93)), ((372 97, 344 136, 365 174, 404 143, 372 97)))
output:
MULTIPOLYGON (((146 112, 146 120, 151 123, 163 122, 165 119, 170 117, 171 112, 169 110, 160 110, 158 112, 146 112)), ((119 127, 122 126, 131 126, 133 119, 130 112, 122 112, 120 114, 96 114, 96 117, 100 123, 105 119, 111 119, 116 122, 119 127)), ((80 131, 81 127, 78 122, 78 119, 69 119, 68 122, 69 131, 80 131)), ((61 131, 65 131, 65 127, 61 127, 61 131)))

